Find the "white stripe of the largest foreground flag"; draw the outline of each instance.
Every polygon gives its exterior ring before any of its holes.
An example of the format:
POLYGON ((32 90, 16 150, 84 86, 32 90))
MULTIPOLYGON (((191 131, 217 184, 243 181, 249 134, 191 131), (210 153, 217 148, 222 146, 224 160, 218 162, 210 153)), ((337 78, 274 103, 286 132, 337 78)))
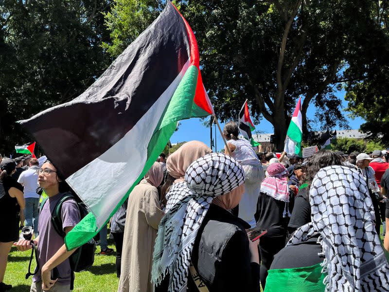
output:
POLYGON ((124 137, 98 158, 73 173, 66 182, 88 206, 100 228, 141 174, 147 146, 190 59, 170 86, 124 137))

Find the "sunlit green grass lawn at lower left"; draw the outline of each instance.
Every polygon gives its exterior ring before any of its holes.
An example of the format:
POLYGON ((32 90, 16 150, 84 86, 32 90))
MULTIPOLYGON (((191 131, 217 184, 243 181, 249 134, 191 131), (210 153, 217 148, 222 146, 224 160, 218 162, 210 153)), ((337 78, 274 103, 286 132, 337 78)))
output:
MULTIPOLYGON (((110 248, 115 249, 112 240, 108 239, 110 248)), ((109 256, 100 256, 100 247, 96 249, 96 256, 93 266, 81 273, 75 273, 74 290, 82 292, 116 292, 118 290, 119 278, 116 277, 115 253, 109 256)), ((18 252, 15 247, 8 256, 8 265, 5 272, 4 283, 11 284, 12 292, 29 292, 32 277, 26 280, 28 264, 30 262, 31 250, 18 252)), ((34 260, 35 261, 35 260, 34 260)), ((35 265, 34 265, 35 268, 35 265)), ((34 271, 34 268, 31 270, 34 271)))

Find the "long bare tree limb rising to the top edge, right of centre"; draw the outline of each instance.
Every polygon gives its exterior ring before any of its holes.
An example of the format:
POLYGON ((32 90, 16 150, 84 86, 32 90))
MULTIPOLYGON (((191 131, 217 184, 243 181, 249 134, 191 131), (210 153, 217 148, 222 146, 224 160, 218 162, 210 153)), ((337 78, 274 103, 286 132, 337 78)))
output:
POLYGON ((297 15, 297 11, 301 6, 301 0, 297 0, 295 6, 293 7, 292 14, 289 17, 288 21, 285 23, 285 29, 283 32, 283 37, 281 40, 280 47, 280 55, 278 57, 277 64, 277 97, 275 100, 276 108, 279 108, 281 104, 283 104, 282 91, 284 91, 283 83, 281 79, 282 69, 283 69, 283 59, 285 57, 285 49, 286 49, 286 40, 288 38, 288 34, 290 31, 290 27, 292 26, 292 22, 297 15))

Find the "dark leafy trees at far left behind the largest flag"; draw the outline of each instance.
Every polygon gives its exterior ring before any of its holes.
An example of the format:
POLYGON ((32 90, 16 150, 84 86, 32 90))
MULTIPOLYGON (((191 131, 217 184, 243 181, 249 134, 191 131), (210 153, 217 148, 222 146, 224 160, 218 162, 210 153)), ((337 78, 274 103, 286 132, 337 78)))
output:
POLYGON ((73 99, 109 65, 110 2, 0 0, 1 153, 32 140, 16 121, 73 99))

